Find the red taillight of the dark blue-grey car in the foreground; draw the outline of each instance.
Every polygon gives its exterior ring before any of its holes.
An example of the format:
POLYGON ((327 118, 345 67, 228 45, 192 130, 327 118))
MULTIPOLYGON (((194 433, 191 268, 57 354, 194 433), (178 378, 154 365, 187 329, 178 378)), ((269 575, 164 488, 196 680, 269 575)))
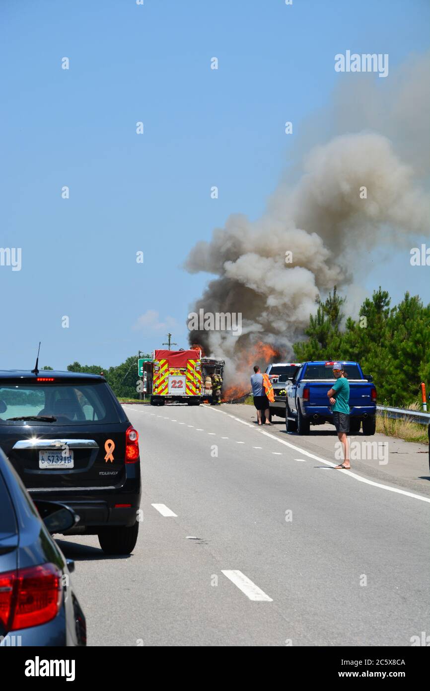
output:
POLYGON ((53 564, 0 574, 0 621, 17 631, 51 621, 61 605, 61 571, 53 564))

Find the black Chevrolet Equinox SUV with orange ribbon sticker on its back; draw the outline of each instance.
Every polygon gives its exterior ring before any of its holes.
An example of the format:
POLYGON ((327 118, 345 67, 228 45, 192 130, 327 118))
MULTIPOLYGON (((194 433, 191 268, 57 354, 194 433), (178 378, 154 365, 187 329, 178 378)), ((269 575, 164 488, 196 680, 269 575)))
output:
POLYGON ((0 446, 33 500, 66 503, 108 554, 133 551, 139 530, 138 433, 106 379, 0 370, 0 446))

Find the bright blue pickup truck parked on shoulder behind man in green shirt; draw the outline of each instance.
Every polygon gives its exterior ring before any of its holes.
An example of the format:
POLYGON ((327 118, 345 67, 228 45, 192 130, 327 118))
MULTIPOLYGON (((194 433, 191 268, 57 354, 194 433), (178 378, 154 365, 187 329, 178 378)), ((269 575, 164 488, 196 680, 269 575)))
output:
MULTIPOLYGON (((339 362, 339 361, 338 361, 339 362)), ((363 425, 365 435, 375 434, 376 389, 373 377, 363 375, 358 362, 340 360, 349 381, 350 433, 363 425)), ((304 362, 286 386, 286 431, 309 434, 311 424, 333 424, 332 406, 327 391, 334 384, 333 362, 304 362)))

